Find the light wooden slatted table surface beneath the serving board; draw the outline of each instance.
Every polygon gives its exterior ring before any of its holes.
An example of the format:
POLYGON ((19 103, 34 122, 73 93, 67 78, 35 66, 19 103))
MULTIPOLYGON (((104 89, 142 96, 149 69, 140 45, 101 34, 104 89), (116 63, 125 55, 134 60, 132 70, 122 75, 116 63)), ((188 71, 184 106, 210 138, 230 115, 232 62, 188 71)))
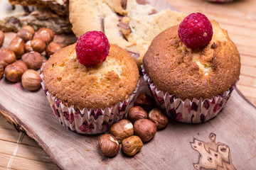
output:
MULTIPOLYGON (((210 4, 201 0, 168 0, 183 13, 200 11, 228 30, 240 51, 242 69, 238 89, 256 105, 256 2, 210 4)), ((0 169, 58 169, 48 154, 23 132, 0 117, 0 169)))

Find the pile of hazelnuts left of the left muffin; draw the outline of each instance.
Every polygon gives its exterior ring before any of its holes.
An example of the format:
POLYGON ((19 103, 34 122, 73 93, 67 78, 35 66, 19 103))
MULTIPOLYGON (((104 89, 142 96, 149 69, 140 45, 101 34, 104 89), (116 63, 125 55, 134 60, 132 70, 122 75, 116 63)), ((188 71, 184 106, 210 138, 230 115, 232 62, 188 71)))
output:
MULTIPOLYGON (((31 26, 21 28, 9 47, 0 51, 0 79, 5 75, 11 82, 21 81, 28 91, 40 89, 41 77, 36 70, 44 62, 41 53, 46 51, 50 57, 61 48, 53 38, 53 30, 49 28, 41 28, 36 33, 31 26)), ((3 43, 4 33, 0 30, 0 47, 3 43)))

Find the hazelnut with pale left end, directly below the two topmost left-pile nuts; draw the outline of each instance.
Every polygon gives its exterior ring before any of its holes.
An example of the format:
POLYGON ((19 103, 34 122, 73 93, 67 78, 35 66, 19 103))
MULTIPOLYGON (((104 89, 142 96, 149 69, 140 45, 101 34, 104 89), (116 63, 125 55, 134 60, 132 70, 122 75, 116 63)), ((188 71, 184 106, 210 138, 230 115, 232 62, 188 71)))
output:
POLYGON ((43 40, 41 39, 29 40, 28 42, 26 42, 25 50, 26 52, 36 51, 41 53, 46 50, 46 43, 43 42, 43 40))

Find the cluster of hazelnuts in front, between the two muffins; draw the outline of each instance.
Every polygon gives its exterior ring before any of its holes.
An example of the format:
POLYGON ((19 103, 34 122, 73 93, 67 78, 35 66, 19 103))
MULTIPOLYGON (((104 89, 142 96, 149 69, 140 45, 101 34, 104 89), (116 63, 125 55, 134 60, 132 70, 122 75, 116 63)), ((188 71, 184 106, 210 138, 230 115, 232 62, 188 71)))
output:
POLYGON ((157 129, 163 129, 169 120, 159 108, 153 108, 150 96, 142 92, 129 108, 127 119, 119 120, 110 127, 110 133, 102 135, 99 145, 107 157, 114 157, 119 152, 119 142, 122 152, 134 156, 143 147, 143 142, 149 142, 157 129), (149 113, 148 113, 149 112, 149 113), (135 135, 134 135, 135 133, 135 135))

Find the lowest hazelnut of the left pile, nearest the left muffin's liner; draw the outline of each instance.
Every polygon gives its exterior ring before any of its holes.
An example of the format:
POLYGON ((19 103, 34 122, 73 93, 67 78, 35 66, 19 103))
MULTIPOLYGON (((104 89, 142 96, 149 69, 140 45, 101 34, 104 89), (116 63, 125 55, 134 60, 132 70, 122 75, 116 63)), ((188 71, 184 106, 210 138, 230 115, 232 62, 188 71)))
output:
POLYGON ((41 77, 34 69, 28 69, 21 77, 21 84, 28 91, 36 91, 41 87, 41 77))

